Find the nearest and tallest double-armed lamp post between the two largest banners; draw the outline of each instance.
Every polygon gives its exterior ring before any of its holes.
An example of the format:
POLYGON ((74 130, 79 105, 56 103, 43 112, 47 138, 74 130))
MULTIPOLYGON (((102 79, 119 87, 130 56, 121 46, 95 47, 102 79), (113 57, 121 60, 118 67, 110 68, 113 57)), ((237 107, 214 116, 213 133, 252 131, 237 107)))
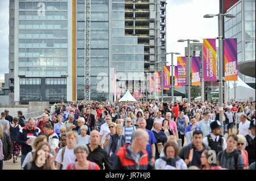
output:
POLYGON ((236 15, 234 14, 206 14, 204 15, 204 18, 213 18, 214 16, 218 16, 218 102, 219 105, 219 111, 220 111, 220 123, 222 126, 222 135, 223 135, 223 116, 221 116, 223 112, 223 40, 224 37, 222 36, 222 24, 223 19, 222 16, 226 16, 226 18, 235 18, 236 15))

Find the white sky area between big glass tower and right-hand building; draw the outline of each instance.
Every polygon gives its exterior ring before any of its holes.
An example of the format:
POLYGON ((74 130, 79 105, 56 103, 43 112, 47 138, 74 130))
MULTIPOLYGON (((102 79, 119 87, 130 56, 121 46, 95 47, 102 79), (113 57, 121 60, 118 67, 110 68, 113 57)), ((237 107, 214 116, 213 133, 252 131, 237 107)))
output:
MULTIPOLYGON (((187 47, 188 43, 178 43, 177 40, 197 39, 203 43, 203 38, 217 37, 218 18, 203 16, 218 14, 218 2, 219 0, 167 0, 167 52, 179 52, 179 56, 185 56, 184 47, 187 47)), ((167 61, 167 65, 171 65, 171 54, 167 56, 167 61)), ((176 55, 174 64, 177 65, 176 55)))

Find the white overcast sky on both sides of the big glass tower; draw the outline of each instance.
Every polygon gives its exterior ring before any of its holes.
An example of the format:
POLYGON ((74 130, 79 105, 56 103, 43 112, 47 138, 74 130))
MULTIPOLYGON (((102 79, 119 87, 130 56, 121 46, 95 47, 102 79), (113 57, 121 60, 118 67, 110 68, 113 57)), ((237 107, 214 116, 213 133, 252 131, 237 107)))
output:
MULTIPOLYGON (((167 52, 184 56, 187 42, 179 39, 214 38, 218 35, 217 17, 203 18, 204 14, 218 14, 218 0, 167 0, 167 52)), ((9 73, 9 0, 0 0, 0 74, 9 73)), ((171 62, 171 55, 167 56, 171 62)), ((174 55, 174 64, 177 58, 174 55)), ((170 65, 170 64, 167 64, 170 65)))

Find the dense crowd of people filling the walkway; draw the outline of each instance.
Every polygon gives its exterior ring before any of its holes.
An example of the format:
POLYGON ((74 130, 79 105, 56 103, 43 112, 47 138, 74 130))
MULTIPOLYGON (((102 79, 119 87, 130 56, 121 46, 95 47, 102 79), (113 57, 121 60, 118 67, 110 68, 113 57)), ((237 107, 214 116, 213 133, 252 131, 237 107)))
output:
POLYGON ((0 170, 18 157, 24 170, 255 169, 255 101, 53 106, 27 121, 1 113, 0 170))

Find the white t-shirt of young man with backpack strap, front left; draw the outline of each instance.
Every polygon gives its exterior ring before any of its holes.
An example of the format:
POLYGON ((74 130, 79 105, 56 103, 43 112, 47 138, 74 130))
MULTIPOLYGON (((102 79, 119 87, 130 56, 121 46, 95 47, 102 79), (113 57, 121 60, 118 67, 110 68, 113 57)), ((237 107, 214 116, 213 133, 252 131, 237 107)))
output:
MULTIPOLYGON (((62 149, 59 150, 57 157, 55 159, 56 162, 61 163, 61 152, 62 149)), ((76 155, 74 153, 74 149, 68 149, 68 147, 65 148, 65 152, 63 155, 63 167, 62 170, 66 170, 69 163, 76 161, 76 155)))

